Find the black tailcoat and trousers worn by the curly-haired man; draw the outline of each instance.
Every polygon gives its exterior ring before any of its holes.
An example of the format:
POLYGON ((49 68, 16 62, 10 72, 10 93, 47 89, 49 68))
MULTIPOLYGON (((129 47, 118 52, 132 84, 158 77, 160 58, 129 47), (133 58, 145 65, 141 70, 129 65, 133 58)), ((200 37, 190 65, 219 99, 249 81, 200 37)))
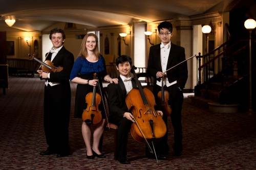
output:
MULTIPOLYGON (((50 53, 47 60, 50 60, 50 53)), ((51 72, 48 82, 59 82, 56 86, 45 86, 44 127, 49 151, 70 153, 69 120, 71 108, 70 72, 74 56, 64 46, 53 59, 55 66, 63 67, 60 72, 51 72), (54 124, 53 124, 54 123, 54 124)))

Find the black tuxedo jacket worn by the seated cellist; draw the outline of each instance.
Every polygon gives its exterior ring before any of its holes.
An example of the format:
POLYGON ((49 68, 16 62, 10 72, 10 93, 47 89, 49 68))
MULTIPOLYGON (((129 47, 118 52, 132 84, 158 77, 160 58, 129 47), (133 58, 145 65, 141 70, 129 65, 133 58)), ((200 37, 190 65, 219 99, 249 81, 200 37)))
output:
MULTIPOLYGON (((133 88, 136 87, 136 82, 132 79, 133 88)), ((118 77, 118 84, 112 83, 108 85, 108 95, 110 104, 110 122, 117 124, 118 119, 123 117, 123 113, 128 112, 125 103, 126 89, 120 76, 118 77)))

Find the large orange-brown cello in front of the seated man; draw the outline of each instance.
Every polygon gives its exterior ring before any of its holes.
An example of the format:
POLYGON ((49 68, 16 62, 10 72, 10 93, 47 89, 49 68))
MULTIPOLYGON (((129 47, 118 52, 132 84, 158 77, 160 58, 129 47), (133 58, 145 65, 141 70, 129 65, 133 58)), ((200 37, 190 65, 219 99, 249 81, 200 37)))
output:
MULTIPOLYGON (((125 98, 127 108, 133 114, 135 122, 130 132, 136 141, 146 143, 150 152, 153 153, 148 140, 152 141, 152 144, 153 141, 160 140, 166 133, 166 125, 154 109, 156 105, 154 94, 151 90, 142 88, 134 66, 131 72, 133 72, 138 88, 132 89, 125 98)), ((156 152, 154 153, 156 155, 156 152)))

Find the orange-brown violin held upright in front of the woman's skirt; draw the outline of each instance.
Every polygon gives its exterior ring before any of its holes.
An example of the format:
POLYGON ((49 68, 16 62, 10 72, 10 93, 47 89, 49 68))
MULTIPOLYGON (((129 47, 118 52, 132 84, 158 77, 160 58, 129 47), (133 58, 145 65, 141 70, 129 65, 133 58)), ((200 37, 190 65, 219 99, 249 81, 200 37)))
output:
MULTIPOLYGON (((97 80, 97 74, 93 74, 94 80, 97 80)), ((101 96, 96 93, 96 86, 93 86, 93 92, 86 95, 87 108, 83 110, 82 120, 88 124, 98 124, 102 119, 101 111, 99 110, 99 104, 101 96)))

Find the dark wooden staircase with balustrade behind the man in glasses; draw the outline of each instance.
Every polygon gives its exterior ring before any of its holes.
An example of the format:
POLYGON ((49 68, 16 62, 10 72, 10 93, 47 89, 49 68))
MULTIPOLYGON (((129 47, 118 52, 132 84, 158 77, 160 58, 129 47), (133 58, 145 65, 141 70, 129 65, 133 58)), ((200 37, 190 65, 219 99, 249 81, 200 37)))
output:
POLYGON ((249 103, 248 47, 248 41, 240 40, 226 42, 204 56, 199 54, 195 95, 188 96, 191 103, 214 112, 246 110, 249 103))

